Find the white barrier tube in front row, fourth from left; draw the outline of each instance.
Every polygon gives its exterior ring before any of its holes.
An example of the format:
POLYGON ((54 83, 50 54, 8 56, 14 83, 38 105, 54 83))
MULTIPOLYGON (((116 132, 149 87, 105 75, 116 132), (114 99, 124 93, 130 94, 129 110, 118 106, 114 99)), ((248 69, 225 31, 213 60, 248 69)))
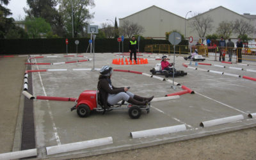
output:
POLYGON ((236 122, 237 120, 243 120, 244 116, 243 115, 237 115, 237 116, 228 116, 225 118, 219 118, 219 119, 215 119, 215 120, 208 120, 205 122, 201 122, 200 126, 202 127, 211 127, 214 125, 220 125, 220 124, 227 124, 230 122, 236 122))

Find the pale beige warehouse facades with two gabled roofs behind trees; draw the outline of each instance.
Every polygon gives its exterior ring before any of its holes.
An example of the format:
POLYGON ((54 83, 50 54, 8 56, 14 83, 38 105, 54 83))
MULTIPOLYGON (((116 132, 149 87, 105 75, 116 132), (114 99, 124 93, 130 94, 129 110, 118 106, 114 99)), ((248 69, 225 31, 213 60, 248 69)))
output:
MULTIPOLYGON (((256 15, 240 15, 239 13, 228 10, 223 6, 219 6, 204 13, 200 13, 199 16, 209 16, 213 20, 213 28, 211 31, 206 33, 205 36, 216 33, 216 29, 223 21, 227 22, 234 21, 236 19, 243 19, 251 24, 256 24, 256 15)), ((186 21, 186 37, 199 37, 198 33, 194 31, 193 28, 191 28, 191 22, 194 19, 195 17, 184 19, 184 17, 175 15, 174 13, 163 10, 157 6, 150 6, 145 10, 141 10, 140 12, 136 12, 132 15, 119 19, 119 26, 122 26, 125 20, 129 20, 140 26, 143 26, 145 31, 142 33, 142 36, 149 38, 165 38, 165 33, 173 30, 179 31, 182 35, 185 35, 186 21)), ((236 38, 237 35, 232 33, 231 37, 236 38)), ((252 35, 249 35, 249 37, 256 38, 256 35, 253 33, 252 35)))

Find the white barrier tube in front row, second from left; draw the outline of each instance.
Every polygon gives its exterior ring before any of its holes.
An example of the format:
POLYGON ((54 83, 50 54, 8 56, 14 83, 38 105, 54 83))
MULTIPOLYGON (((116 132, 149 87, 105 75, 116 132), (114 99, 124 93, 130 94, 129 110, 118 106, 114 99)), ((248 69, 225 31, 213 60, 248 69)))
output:
POLYGON ((113 143, 112 137, 100 138, 88 141, 79 141, 76 143, 68 143, 65 145, 55 145, 52 147, 46 147, 47 155, 60 154, 63 152, 70 152, 74 150, 81 150, 85 148, 99 147, 102 145, 109 145, 113 143))

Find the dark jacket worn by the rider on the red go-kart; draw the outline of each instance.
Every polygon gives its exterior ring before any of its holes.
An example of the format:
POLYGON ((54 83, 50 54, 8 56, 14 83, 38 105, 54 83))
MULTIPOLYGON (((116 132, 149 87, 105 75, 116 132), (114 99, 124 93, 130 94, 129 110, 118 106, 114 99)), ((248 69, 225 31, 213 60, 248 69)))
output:
POLYGON ((100 76, 98 82, 98 90, 99 90, 99 102, 104 108, 108 108, 108 94, 117 94, 120 92, 124 92, 124 87, 116 88, 112 85, 113 90, 109 86, 109 77, 100 76))

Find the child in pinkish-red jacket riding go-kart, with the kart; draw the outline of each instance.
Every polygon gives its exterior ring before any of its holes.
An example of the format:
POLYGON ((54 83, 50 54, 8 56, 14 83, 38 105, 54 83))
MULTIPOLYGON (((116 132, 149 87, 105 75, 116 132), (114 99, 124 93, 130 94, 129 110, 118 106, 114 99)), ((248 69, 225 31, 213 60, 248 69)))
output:
POLYGON ((155 75, 155 74, 164 74, 165 77, 172 77, 174 74, 174 77, 178 76, 186 76, 187 73, 184 72, 184 70, 176 70, 173 68, 174 63, 169 63, 167 60, 166 56, 162 57, 161 63, 157 63, 155 68, 152 68, 150 72, 155 75))

